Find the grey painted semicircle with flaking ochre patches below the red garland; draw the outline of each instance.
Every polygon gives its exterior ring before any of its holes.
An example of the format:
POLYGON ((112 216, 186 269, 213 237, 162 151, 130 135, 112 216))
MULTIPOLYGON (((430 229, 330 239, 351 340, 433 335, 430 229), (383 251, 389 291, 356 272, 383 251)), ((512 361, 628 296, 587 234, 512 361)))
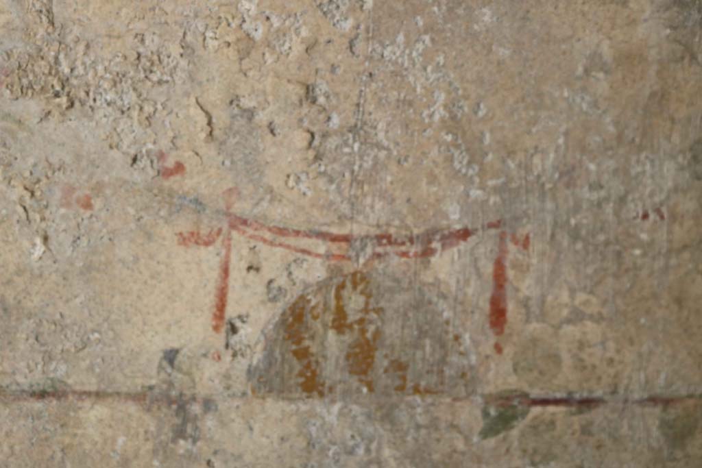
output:
POLYGON ((300 398, 461 394, 470 366, 454 339, 461 333, 451 332, 435 298, 402 281, 411 280, 354 272, 300 294, 268 332, 251 369, 253 391, 300 398), (381 288, 385 295, 376 297, 381 288))

